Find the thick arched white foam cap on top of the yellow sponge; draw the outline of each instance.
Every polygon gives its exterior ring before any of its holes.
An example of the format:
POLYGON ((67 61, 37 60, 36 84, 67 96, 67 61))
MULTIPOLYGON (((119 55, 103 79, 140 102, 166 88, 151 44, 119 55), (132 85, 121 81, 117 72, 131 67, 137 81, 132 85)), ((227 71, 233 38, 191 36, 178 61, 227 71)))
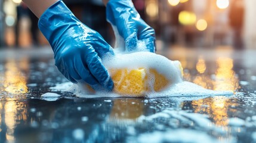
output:
POLYGON ((115 57, 103 60, 107 69, 156 69, 159 74, 164 74, 172 83, 182 81, 178 61, 152 52, 133 52, 129 54, 116 54, 115 57))

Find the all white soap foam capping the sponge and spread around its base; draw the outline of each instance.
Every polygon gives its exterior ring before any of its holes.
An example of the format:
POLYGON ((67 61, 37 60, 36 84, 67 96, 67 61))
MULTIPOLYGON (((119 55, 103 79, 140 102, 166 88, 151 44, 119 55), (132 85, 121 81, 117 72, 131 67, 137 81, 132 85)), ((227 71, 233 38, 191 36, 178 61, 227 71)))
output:
MULTIPOLYGON (((158 98, 158 97, 209 97, 214 95, 233 95, 230 91, 212 91, 209 89, 202 88, 199 85, 191 82, 184 82, 182 79, 182 71, 180 70, 180 65, 178 61, 171 61, 162 55, 157 55, 150 52, 134 52, 130 54, 116 54, 113 58, 107 58, 103 60, 104 66, 107 69, 140 69, 143 67, 147 72, 149 69, 155 69, 159 74, 165 76, 165 78, 171 81, 166 88, 162 91, 150 90, 149 92, 144 92, 143 97, 146 98, 158 98)), ((153 86, 154 76, 149 74, 149 84, 153 86)), ((142 75, 143 76, 143 75, 142 75)), ((121 77, 123 79, 124 77, 121 77)), ((64 89, 67 89, 69 83, 64 83, 64 89)), ((55 86, 51 89, 61 89, 61 87, 55 86)), ((62 88, 63 89, 63 88, 62 88)), ((82 98, 100 98, 100 97, 134 97, 134 95, 121 95, 113 92, 107 91, 97 91, 92 92, 88 86, 83 83, 78 85, 73 85, 69 89, 77 97, 82 98)))

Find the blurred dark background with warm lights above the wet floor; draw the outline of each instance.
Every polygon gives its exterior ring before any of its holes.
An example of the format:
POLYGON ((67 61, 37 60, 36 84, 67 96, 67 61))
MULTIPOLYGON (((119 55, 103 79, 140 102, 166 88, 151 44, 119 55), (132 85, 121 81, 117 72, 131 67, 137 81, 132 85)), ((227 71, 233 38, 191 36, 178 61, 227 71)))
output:
MULTIPOLYGON (((64 0, 87 26, 113 45, 101 0, 64 0)), ((172 46, 235 49, 256 47, 256 1, 133 0, 141 17, 156 30, 157 48, 172 46)), ((0 0, 0 47, 38 48, 48 45, 38 18, 21 0, 0 0)))

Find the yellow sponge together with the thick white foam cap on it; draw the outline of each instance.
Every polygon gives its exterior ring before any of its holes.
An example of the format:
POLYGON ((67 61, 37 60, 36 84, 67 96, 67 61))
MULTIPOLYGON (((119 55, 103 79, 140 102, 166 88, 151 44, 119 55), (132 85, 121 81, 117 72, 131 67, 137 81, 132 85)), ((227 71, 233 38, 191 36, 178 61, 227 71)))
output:
POLYGON ((151 52, 119 53, 103 64, 109 69, 114 91, 122 95, 141 97, 182 82, 179 61, 151 52))

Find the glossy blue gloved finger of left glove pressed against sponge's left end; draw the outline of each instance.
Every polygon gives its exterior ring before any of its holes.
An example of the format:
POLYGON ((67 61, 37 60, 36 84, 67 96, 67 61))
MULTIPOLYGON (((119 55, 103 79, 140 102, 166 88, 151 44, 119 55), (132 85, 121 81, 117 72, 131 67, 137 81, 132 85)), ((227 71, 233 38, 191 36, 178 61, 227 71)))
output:
POLYGON ((90 52, 87 55, 85 61, 87 61, 88 69, 91 71, 91 74, 98 80, 100 85, 104 88, 112 91, 113 81, 107 72, 107 69, 101 63, 100 57, 98 57, 96 52, 90 52))

